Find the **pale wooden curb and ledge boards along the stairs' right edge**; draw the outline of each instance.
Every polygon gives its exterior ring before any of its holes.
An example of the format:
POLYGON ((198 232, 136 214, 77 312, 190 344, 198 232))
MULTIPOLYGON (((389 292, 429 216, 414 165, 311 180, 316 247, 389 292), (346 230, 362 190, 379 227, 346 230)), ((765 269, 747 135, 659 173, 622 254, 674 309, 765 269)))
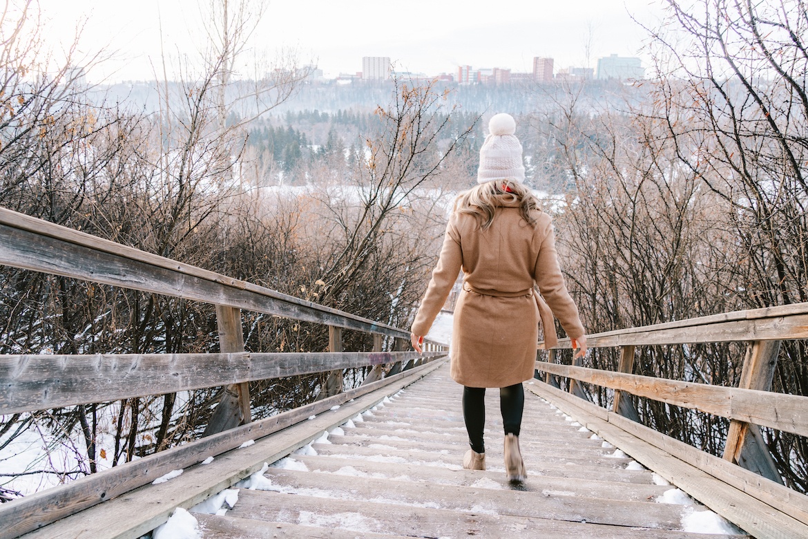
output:
POLYGON ((755 537, 808 537, 808 496, 549 385, 527 387, 755 537))

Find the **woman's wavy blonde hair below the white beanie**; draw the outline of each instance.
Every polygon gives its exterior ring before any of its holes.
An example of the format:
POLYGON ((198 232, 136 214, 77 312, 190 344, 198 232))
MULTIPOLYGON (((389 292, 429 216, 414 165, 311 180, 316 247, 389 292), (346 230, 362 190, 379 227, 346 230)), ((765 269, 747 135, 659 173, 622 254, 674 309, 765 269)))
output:
POLYGON ((486 230, 494 221, 497 198, 500 195, 511 196, 511 200, 520 200, 519 211, 522 218, 528 222, 528 225, 536 225, 536 217, 531 215, 531 210, 541 211, 539 200, 528 187, 524 186, 524 183, 510 179, 497 179, 481 183, 469 191, 462 192, 455 200, 454 211, 478 217, 480 228, 486 230))

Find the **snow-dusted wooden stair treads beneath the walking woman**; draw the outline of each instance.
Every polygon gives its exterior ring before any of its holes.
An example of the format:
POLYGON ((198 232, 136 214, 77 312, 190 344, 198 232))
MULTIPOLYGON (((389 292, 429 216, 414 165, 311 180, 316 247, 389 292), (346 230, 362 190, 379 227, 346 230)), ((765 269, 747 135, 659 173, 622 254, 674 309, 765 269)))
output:
POLYGON ((195 514, 204 537, 730 537, 684 532, 705 507, 657 503, 675 487, 626 469, 629 457, 529 391, 528 481, 517 486, 505 480, 496 390, 485 472, 461 468, 462 388, 448 364, 397 391, 251 478, 259 490, 242 487, 225 515, 195 514))

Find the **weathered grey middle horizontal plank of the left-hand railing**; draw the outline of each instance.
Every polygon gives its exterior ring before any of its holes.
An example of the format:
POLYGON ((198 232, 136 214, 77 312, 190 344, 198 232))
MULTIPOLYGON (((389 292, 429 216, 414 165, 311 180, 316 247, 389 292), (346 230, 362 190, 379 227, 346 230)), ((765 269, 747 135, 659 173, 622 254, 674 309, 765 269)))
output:
MULTIPOLYGON (((0 415, 389 364, 418 352, 0 356, 0 415)), ((434 359, 445 352, 424 354, 434 359)))

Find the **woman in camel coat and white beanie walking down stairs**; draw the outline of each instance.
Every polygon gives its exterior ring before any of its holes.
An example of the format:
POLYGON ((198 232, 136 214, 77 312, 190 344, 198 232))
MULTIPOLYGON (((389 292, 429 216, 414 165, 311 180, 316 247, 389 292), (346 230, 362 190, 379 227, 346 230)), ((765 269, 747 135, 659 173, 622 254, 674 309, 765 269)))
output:
MULTIPOLYGON (((451 374, 463 388, 463 418, 469 451, 463 467, 486 469, 482 430, 486 388, 498 387, 505 427, 505 470, 511 482, 526 478, 519 448, 524 408, 522 382, 533 376, 540 309, 546 305, 572 339, 575 355, 587 352, 578 309, 566 290, 550 218, 524 186, 522 145, 516 122, 498 114, 480 149, 478 186, 461 193, 446 227, 440 259, 421 301, 410 339, 421 352, 423 335, 435 322, 458 273, 450 348, 451 374), (541 295, 534 297, 533 284, 541 295)), ((545 320, 545 343, 555 339, 552 315, 545 320)))

